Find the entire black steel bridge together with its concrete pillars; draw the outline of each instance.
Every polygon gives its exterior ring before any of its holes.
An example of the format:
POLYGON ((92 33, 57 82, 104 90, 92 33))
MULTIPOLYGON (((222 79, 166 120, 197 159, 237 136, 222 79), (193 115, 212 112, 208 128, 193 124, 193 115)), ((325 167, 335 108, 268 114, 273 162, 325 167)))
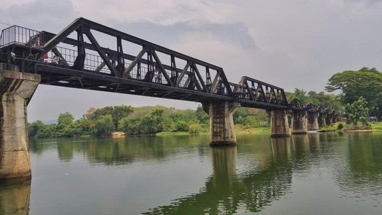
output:
POLYGON ((9 168, 0 167, 0 179, 30 177, 26 106, 39 84, 201 103, 210 116, 211 145, 236 144, 232 114, 239 107, 268 110, 273 136, 289 135, 288 117, 292 133, 318 130, 340 118, 328 108, 296 99, 288 103, 280 87, 247 76, 236 81, 229 82, 219 66, 85 18, 57 34, 16 25, 3 29, 0 163, 9 168))

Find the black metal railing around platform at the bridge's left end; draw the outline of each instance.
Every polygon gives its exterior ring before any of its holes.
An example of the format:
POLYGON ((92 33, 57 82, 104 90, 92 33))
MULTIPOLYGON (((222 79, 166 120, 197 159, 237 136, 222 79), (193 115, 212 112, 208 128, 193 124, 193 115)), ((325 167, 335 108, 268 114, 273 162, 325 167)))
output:
POLYGON ((13 25, 1 31, 0 48, 12 45, 26 45, 42 48, 44 45, 42 32, 13 25))

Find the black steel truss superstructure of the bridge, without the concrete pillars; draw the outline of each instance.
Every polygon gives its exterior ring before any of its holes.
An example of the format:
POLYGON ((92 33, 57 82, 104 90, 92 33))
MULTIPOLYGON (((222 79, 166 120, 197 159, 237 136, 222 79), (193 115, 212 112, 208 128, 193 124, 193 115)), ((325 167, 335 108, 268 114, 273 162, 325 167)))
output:
POLYGON ((243 76, 242 86, 227 80, 223 68, 141 38, 78 18, 58 34, 20 26, 3 29, 0 63, 6 69, 41 75, 41 84, 133 94, 200 103, 238 102, 242 107, 334 113, 304 106, 285 92, 243 76), (71 38, 70 36, 77 38, 71 38), (100 45, 112 42, 115 50, 100 45), (87 40, 87 41, 86 41, 87 40), (138 53, 127 47, 134 46, 138 53), (73 48, 77 47, 77 48, 73 48), (123 49, 123 47, 125 49, 123 49), (127 50, 127 51, 126 51, 127 50), (44 62, 44 55, 48 55, 44 62), (53 56, 59 63, 52 63, 53 56))

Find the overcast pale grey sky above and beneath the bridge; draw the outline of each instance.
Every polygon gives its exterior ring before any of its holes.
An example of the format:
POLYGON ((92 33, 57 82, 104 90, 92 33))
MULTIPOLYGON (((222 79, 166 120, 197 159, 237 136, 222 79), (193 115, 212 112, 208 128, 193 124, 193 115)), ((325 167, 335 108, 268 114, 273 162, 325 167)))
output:
MULTIPOLYGON (((87 19, 293 92, 323 91, 337 72, 382 68, 382 0, 0 0, 0 28, 53 33, 87 19)), ((125 49, 124 49, 125 50, 125 49)), ((114 105, 197 103, 40 85, 28 121, 114 105)))

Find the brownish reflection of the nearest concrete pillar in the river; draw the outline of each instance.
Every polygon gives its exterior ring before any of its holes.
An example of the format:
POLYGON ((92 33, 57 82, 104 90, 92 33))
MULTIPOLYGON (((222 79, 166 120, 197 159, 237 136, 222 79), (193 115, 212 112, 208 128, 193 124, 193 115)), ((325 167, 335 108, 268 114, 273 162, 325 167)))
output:
POLYGON ((0 187, 1 215, 28 215, 30 182, 0 187))

